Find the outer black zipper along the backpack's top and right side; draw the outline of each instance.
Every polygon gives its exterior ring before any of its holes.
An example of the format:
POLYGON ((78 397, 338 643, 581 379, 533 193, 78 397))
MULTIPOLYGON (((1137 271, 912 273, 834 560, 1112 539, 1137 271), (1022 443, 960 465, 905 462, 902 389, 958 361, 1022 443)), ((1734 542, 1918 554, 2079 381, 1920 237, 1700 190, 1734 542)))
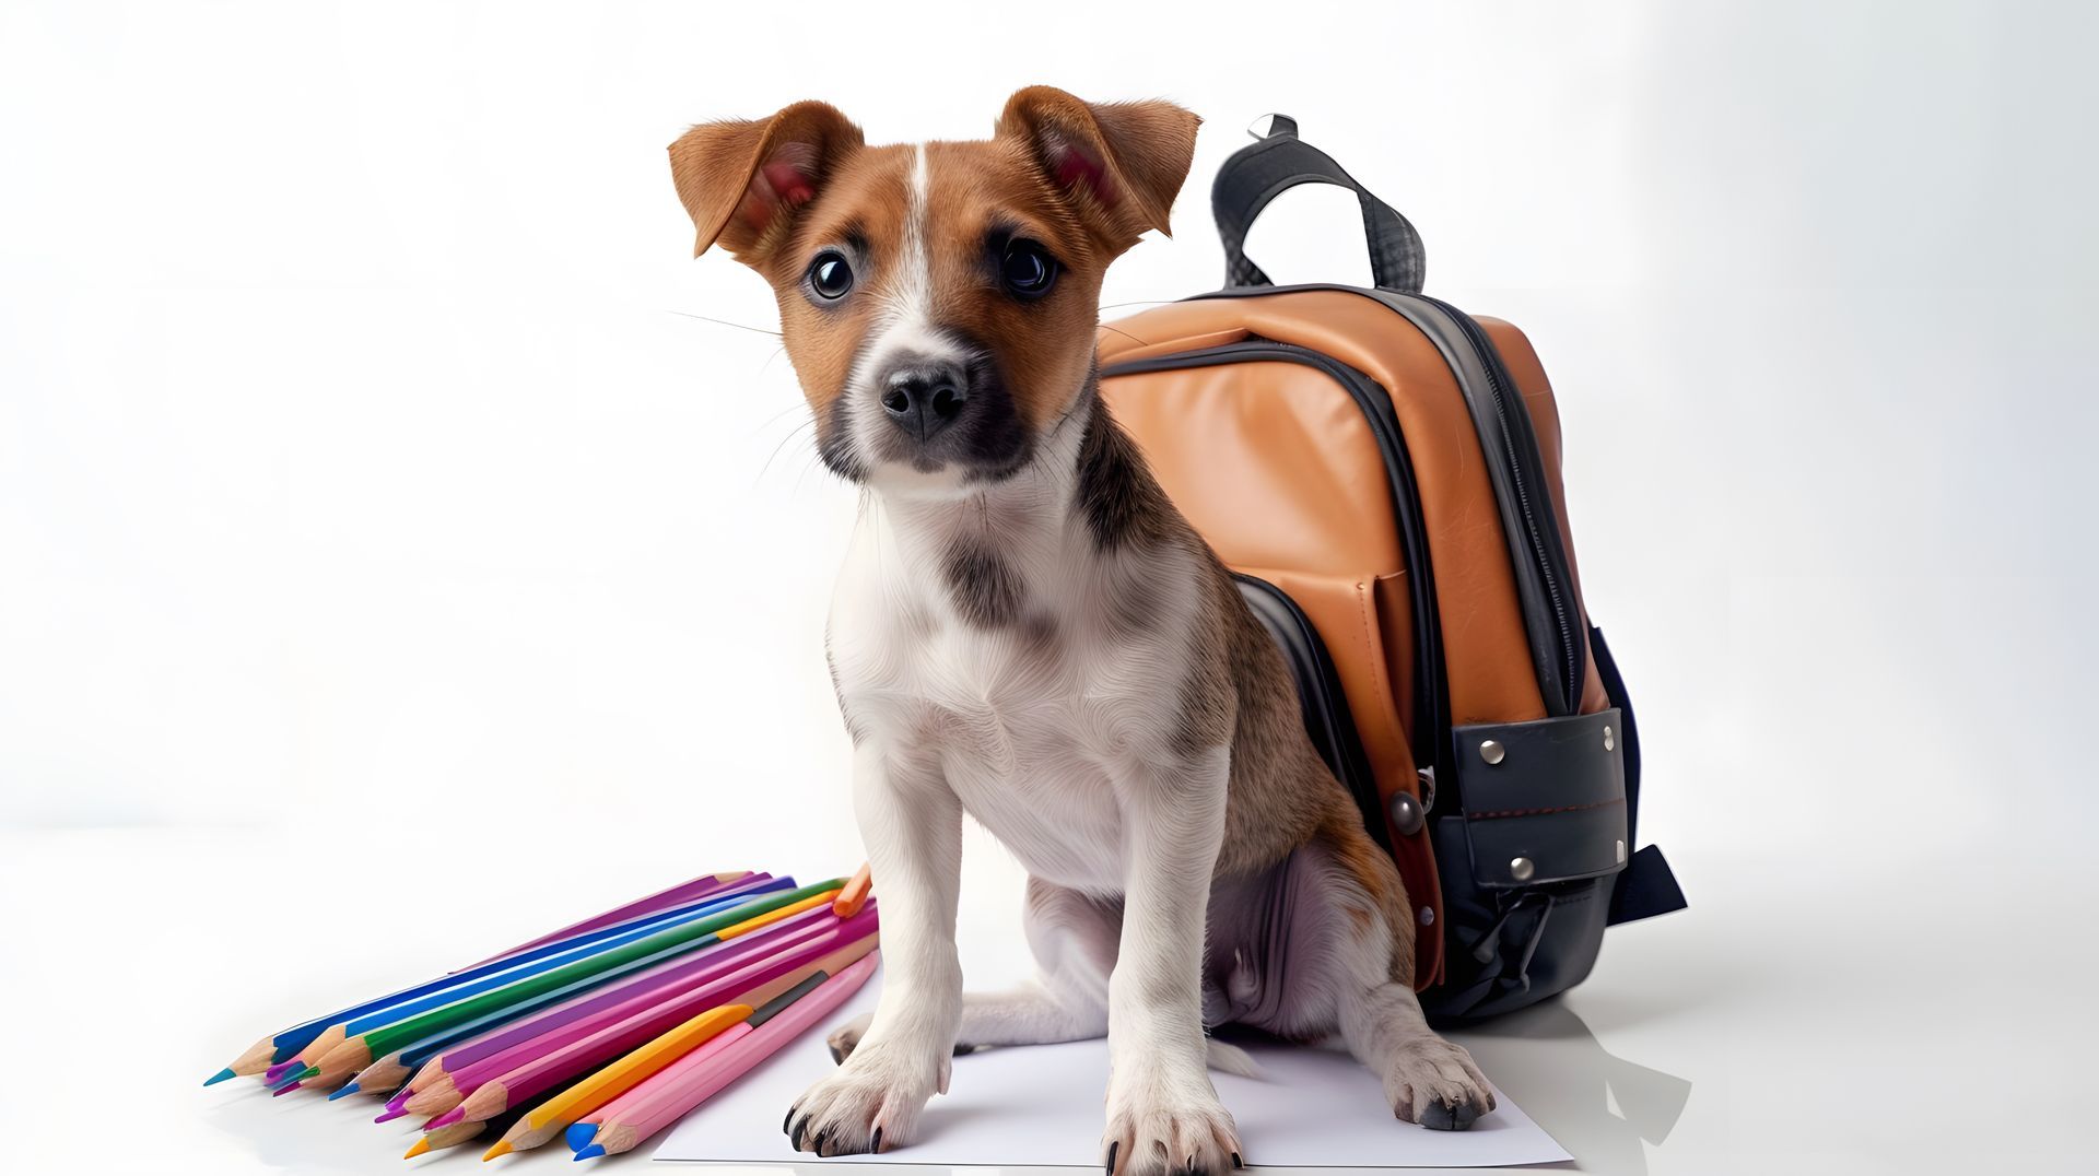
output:
MULTIPOLYGON (((1494 483, 1494 498, 1501 506, 1503 529, 1509 538, 1509 561, 1515 571, 1518 603, 1524 607, 1524 630, 1530 638, 1530 653, 1545 712, 1549 716, 1581 712, 1585 649, 1572 598, 1574 578, 1566 571, 1566 544, 1560 538, 1557 517, 1551 512, 1549 489, 1543 479, 1530 475, 1530 468, 1543 460, 1539 458, 1539 443, 1530 424, 1530 412, 1524 407, 1522 397, 1515 397, 1513 401, 1509 399, 1509 393, 1515 388, 1515 380, 1503 365, 1501 353, 1494 351, 1494 342, 1486 336, 1486 330, 1471 319, 1471 315, 1465 315, 1457 307, 1425 294, 1364 290, 1360 286, 1337 284, 1295 284, 1234 286, 1213 290, 1209 294, 1194 294, 1184 300, 1259 298, 1303 290, 1331 290, 1371 298, 1411 321, 1429 338, 1429 342, 1436 344, 1438 351, 1444 353, 1444 361, 1450 365, 1450 374, 1457 378, 1459 388, 1465 395, 1465 403, 1473 414, 1473 426, 1480 433, 1480 445, 1488 458, 1488 475, 1494 483), (1467 378, 1463 361, 1476 361, 1484 380, 1467 378), (1478 386, 1482 382, 1486 384, 1484 388, 1478 386), (1494 443, 1488 443, 1486 433, 1490 430, 1497 435, 1494 443)), ((1398 430, 1396 418, 1392 428, 1398 430)), ((1408 552, 1408 559, 1411 556, 1413 552, 1408 552)))

